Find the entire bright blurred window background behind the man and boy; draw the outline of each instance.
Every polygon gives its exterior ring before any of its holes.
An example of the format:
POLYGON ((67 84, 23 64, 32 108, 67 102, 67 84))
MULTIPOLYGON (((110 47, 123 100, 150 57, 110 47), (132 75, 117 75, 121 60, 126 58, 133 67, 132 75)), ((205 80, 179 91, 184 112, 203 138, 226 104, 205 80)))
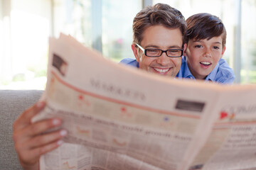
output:
POLYGON ((185 18, 220 17, 224 58, 237 84, 256 83, 255 0, 0 0, 0 89, 44 89, 48 38, 70 34, 114 62, 133 58, 132 20, 144 6, 169 4, 185 18))

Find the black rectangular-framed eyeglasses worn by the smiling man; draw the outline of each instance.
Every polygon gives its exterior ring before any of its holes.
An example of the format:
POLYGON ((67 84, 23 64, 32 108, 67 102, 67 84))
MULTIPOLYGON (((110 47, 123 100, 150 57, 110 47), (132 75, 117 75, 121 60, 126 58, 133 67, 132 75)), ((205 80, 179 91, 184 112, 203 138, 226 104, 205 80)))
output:
POLYGON ((154 48, 149 48, 149 49, 144 49, 142 46, 136 45, 144 52, 144 55, 147 57, 160 57, 163 52, 166 53, 168 57, 181 57, 183 55, 183 50, 181 49, 169 49, 169 50, 160 50, 160 49, 154 49, 154 48))

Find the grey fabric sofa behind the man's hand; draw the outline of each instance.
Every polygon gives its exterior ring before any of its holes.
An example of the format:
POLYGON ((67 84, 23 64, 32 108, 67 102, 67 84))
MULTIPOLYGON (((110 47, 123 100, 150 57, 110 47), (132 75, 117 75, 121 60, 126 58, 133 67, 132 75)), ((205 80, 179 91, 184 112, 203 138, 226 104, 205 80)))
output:
POLYGON ((0 90, 0 169, 22 169, 12 140, 12 125, 18 115, 36 103, 43 91, 0 90))

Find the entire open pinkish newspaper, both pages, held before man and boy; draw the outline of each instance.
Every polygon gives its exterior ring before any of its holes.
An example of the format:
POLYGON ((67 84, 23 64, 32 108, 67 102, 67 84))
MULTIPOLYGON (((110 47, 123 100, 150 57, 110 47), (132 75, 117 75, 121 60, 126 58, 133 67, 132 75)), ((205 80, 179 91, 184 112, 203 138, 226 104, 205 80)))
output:
POLYGON ((50 38, 46 108, 64 144, 41 170, 256 169, 256 86, 169 79, 50 38))

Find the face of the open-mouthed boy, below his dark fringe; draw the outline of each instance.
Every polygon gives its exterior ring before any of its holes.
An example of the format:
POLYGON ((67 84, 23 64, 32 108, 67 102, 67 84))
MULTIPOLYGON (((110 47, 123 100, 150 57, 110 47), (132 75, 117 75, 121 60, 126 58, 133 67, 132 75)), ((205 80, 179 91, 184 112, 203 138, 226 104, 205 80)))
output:
POLYGON ((223 57, 225 45, 222 42, 221 35, 210 40, 188 40, 184 55, 187 56, 188 68, 196 79, 205 79, 223 57))

